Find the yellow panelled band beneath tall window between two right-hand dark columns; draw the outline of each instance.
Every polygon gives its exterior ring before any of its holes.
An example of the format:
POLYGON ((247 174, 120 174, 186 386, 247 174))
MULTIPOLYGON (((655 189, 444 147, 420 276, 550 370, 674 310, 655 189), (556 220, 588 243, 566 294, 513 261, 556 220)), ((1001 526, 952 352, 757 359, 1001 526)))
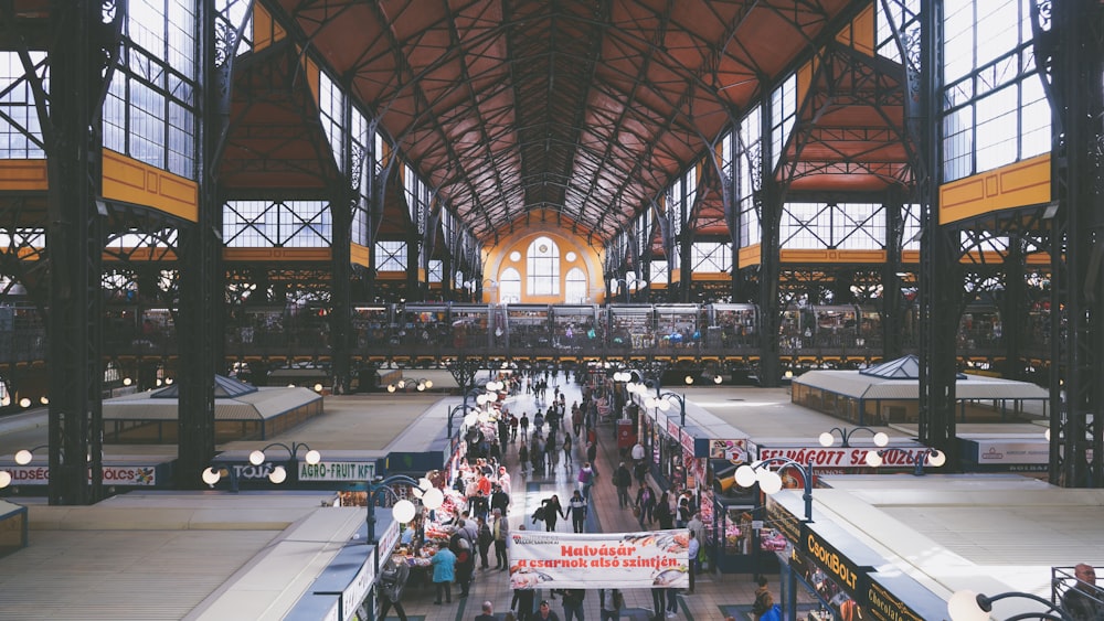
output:
POLYGON ((1051 201, 1050 153, 940 186, 940 224, 1051 201))

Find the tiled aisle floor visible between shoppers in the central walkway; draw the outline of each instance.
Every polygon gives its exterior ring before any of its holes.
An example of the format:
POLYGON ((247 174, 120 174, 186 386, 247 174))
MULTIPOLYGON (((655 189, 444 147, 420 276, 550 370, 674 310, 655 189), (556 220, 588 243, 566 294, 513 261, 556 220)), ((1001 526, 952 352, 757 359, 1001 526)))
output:
MULTIPOLYGON (((580 387, 573 383, 565 383, 563 376, 559 378, 560 389, 564 392, 566 401, 581 400, 580 387)), ((551 387, 549 394, 551 395, 551 387)), ((514 413, 527 411, 530 416, 537 409, 537 404, 530 395, 518 395, 509 403, 510 409, 514 413)), ((617 506, 617 494, 609 482, 609 477, 617 465, 618 453, 614 439, 614 428, 612 425, 598 426, 598 458, 597 471, 599 477, 592 489, 592 520, 588 520, 588 527, 598 528, 601 532, 627 532, 637 531, 639 526, 633 513, 628 508, 617 506)), ((540 499, 559 494, 561 502, 566 503, 574 489, 574 480, 577 468, 581 463, 576 445, 576 454, 572 464, 563 461, 560 453, 560 461, 548 475, 530 477, 524 479, 518 468, 517 445, 510 445, 507 453, 507 463, 510 467, 510 475, 513 480, 513 504, 510 507, 510 522, 512 527, 517 527, 526 521, 528 527, 533 527, 529 516, 532 514, 535 503, 540 499)), ((654 488, 658 488, 655 481, 654 488)), ((571 532, 570 521, 561 520, 556 524, 556 531, 571 532)), ((493 565, 491 565, 493 567, 493 565)), ((403 596, 403 603, 406 608, 411 621, 424 619, 425 621, 458 621, 475 619, 479 614, 479 607, 484 601, 490 601, 495 612, 501 614, 510 610, 512 592, 509 589, 509 578, 503 571, 476 569, 475 583, 471 592, 466 599, 458 599, 458 589, 454 587, 453 603, 435 606, 433 603, 433 587, 425 589, 421 587, 407 588, 403 596)), ((694 595, 679 596, 679 619, 696 620, 722 620, 725 614, 735 614, 739 621, 751 619, 751 602, 754 598, 754 583, 749 575, 720 575, 704 574, 697 580, 694 595)), ((777 597, 777 593, 776 593, 777 597)), ((598 617, 597 591, 587 592, 585 613, 586 618, 597 621, 598 617)), ((538 600, 539 601, 539 600, 538 600)), ((625 591, 625 610, 622 619, 641 620, 651 615, 651 592, 647 589, 625 591)), ((552 609, 563 619, 563 611, 559 601, 552 602, 552 609)), ((397 619, 394 612, 388 619, 397 619)))

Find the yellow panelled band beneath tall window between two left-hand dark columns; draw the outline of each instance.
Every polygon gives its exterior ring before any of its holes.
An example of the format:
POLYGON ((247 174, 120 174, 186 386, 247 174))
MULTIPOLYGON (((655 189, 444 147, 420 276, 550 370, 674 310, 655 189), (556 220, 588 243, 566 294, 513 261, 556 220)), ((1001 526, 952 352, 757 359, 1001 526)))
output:
POLYGON ((189 179, 104 149, 104 197, 199 221, 199 185, 189 179))

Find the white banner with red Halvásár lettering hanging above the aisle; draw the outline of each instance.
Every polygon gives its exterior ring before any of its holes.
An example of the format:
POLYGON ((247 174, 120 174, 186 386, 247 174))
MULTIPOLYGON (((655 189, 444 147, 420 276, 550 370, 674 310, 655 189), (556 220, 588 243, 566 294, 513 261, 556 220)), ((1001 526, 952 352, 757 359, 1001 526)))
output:
POLYGON ((511 589, 690 586, 687 531, 510 534, 511 589))

